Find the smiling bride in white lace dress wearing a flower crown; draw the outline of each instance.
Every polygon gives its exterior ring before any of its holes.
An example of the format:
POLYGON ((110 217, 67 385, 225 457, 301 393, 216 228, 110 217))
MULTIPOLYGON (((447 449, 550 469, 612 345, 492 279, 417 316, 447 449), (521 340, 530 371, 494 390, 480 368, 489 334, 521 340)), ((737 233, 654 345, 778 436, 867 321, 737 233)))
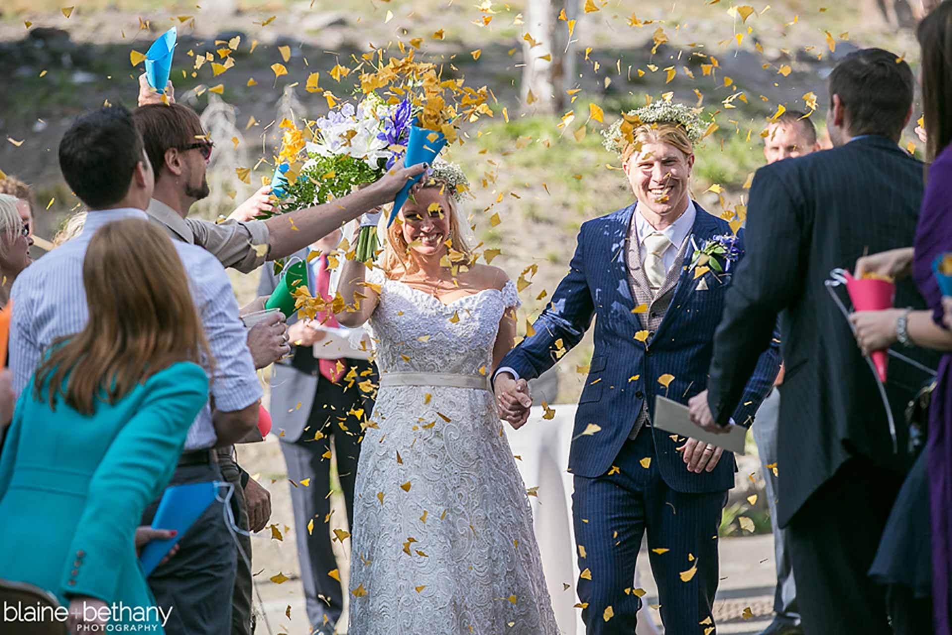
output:
POLYGON ((519 296, 466 244, 466 189, 462 170, 436 163, 388 228, 383 268, 349 261, 341 274, 351 308, 337 320, 369 321, 381 374, 355 485, 354 635, 558 633, 488 381, 519 296))

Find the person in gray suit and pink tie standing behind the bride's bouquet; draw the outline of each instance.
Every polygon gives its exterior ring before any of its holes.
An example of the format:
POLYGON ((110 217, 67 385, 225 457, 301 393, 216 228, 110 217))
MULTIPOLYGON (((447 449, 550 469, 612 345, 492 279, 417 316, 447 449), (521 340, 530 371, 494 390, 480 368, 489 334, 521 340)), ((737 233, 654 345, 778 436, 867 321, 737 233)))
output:
MULTIPOLYGON (((340 229, 315 243, 315 251, 328 253, 340 241, 340 229)), ((291 258, 306 260, 311 249, 302 249, 291 258)), ((311 294, 333 294, 335 285, 321 256, 308 262, 308 286, 311 294), (327 285, 322 287, 322 280, 327 285)), ((270 295, 279 277, 268 263, 263 269, 258 295, 270 295)), ((330 635, 344 608, 339 579, 328 575, 337 569, 331 548, 330 526, 330 440, 334 440, 334 458, 344 498, 347 501, 347 526, 353 526, 354 479, 363 436, 361 422, 370 416, 373 401, 358 384, 372 380, 376 369, 366 359, 317 359, 314 345, 320 347, 321 331, 314 323, 288 317, 288 335, 295 344, 287 361, 276 363, 271 371, 271 417, 273 431, 279 435, 281 451, 292 482, 291 505, 298 562, 304 584, 307 619, 315 635, 330 635)), ((325 326, 331 326, 329 319, 325 326)), ((358 335, 358 334, 355 334, 358 335)), ((354 337, 354 340, 359 337, 354 337)), ((352 529, 351 529, 352 531, 352 529)))

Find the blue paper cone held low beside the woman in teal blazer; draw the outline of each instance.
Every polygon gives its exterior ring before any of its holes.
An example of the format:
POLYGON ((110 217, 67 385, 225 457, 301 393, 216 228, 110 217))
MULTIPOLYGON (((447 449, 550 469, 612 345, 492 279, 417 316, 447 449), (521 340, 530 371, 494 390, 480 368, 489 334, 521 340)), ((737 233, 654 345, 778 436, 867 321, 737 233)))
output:
POLYGON ((153 540, 143 547, 142 555, 139 556, 143 575, 148 578, 171 548, 182 539, 188 527, 205 513, 208 506, 215 500, 215 492, 216 486, 211 481, 171 486, 166 489, 162 500, 159 501, 158 509, 155 510, 152 528, 175 529, 178 535, 169 540, 153 540))

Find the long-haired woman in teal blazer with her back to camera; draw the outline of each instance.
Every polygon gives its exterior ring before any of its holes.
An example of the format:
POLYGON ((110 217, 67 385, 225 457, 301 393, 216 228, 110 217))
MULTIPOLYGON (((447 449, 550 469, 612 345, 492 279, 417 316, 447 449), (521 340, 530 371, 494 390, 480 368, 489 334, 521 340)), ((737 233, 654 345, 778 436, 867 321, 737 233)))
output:
MULTIPOLYGON (((89 323, 50 347, 0 454, 0 578, 71 607, 142 610, 154 602, 135 529, 208 402, 193 363, 208 347, 181 261, 148 221, 97 231, 83 273, 89 323)), ((143 613, 113 612, 109 624, 161 633, 159 612, 143 613)))

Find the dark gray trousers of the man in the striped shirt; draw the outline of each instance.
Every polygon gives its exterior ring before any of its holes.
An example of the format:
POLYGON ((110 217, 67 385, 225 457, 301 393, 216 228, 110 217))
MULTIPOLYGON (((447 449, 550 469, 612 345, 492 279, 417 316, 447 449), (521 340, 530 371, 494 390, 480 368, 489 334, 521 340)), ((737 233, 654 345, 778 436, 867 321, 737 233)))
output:
MULTIPOLYGON (((215 464, 180 466, 169 486, 222 480, 215 464)), ((146 508, 143 525, 151 525, 158 506, 155 500, 146 508)), ((178 545, 178 553, 149 576, 155 604, 172 608, 166 635, 230 635, 237 549, 225 526, 222 504, 215 501, 208 506, 178 545)))

